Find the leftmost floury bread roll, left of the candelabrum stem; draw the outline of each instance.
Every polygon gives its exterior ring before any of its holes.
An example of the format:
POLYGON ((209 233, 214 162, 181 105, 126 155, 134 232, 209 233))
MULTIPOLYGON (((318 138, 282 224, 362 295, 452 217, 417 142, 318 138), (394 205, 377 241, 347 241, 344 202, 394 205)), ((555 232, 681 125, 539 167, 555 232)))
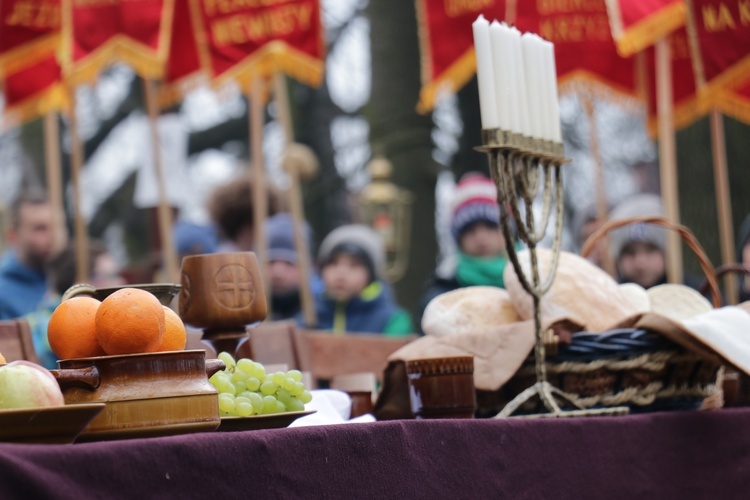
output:
POLYGON ((520 319, 506 290, 469 286, 432 299, 422 316, 422 331, 436 337, 461 335, 520 319))

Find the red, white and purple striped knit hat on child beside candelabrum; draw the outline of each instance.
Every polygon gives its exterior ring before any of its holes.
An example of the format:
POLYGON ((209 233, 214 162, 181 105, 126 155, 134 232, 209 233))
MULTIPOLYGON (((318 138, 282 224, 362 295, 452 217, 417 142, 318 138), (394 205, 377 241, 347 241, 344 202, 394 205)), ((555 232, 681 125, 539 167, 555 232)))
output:
POLYGON ((475 222, 500 225, 500 210, 497 207, 497 187, 495 183, 479 173, 465 175, 453 195, 453 218, 451 234, 456 243, 461 235, 475 222))

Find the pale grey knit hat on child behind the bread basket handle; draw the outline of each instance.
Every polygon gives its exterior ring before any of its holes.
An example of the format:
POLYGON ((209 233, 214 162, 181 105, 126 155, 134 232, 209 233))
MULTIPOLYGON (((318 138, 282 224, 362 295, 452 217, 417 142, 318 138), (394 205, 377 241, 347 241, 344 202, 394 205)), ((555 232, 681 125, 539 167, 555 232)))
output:
MULTIPOLYGON (((661 198, 654 194, 639 194, 620 203, 612 211, 611 220, 629 219, 631 217, 663 217, 661 198)), ((661 227, 653 224, 628 224, 609 233, 609 253, 617 260, 625 245, 632 241, 647 242, 660 248, 667 246, 667 234, 661 227)))

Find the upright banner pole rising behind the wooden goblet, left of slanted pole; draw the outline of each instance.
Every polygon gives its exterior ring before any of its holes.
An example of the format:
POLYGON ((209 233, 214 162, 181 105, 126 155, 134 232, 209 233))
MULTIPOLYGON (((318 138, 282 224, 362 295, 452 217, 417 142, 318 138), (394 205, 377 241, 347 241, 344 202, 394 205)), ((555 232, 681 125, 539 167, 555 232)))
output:
POLYGON ((264 110, 263 88, 261 79, 254 76, 250 92, 247 93, 247 104, 250 107, 250 149, 253 173, 253 225, 255 227, 255 255, 258 257, 261 281, 270 302, 271 290, 268 280, 268 239, 266 238, 266 218, 268 217, 268 189, 266 170, 263 162, 263 126, 264 110))

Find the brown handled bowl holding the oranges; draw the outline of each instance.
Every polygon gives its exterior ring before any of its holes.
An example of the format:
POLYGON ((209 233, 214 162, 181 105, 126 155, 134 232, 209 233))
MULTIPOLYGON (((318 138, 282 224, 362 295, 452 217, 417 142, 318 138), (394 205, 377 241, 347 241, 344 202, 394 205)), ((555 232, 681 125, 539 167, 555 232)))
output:
POLYGON ((51 372, 66 404, 106 404, 77 441, 210 432, 221 419, 208 377, 225 366, 205 355, 188 350, 66 359, 51 372))

